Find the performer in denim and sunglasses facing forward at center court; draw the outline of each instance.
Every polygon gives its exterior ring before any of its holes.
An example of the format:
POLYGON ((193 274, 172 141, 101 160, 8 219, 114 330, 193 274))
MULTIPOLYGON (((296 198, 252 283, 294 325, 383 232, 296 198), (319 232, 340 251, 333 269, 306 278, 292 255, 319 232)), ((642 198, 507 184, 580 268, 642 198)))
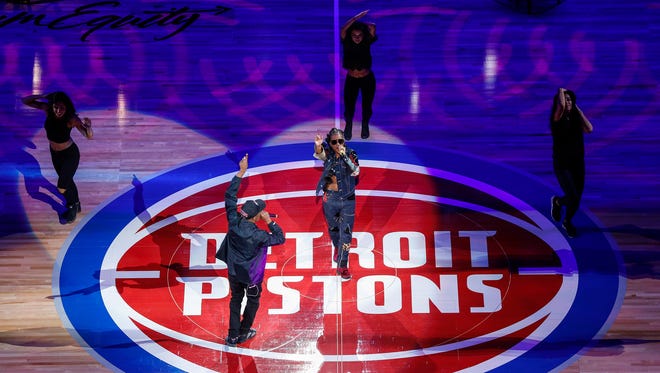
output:
POLYGON ((344 132, 333 128, 325 143, 321 135, 314 139, 314 158, 323 161, 323 174, 316 186, 316 194, 323 195, 323 214, 328 233, 336 252, 337 274, 342 281, 351 279, 348 253, 353 239, 355 222, 355 186, 360 164, 355 150, 347 148, 344 132))

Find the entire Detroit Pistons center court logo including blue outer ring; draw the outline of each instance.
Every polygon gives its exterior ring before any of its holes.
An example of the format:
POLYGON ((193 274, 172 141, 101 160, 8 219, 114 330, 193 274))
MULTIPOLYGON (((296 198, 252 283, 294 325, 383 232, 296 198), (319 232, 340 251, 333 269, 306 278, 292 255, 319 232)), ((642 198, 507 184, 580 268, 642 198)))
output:
POLYGON ((553 191, 528 175, 355 147, 351 281, 335 274, 310 144, 249 151, 239 204, 264 199, 286 242, 269 250, 257 337, 226 346, 214 254, 237 165, 222 154, 136 179, 76 227, 53 279, 66 327, 112 369, 186 372, 549 371, 609 328, 624 282, 588 214, 569 240, 547 217, 553 191))

